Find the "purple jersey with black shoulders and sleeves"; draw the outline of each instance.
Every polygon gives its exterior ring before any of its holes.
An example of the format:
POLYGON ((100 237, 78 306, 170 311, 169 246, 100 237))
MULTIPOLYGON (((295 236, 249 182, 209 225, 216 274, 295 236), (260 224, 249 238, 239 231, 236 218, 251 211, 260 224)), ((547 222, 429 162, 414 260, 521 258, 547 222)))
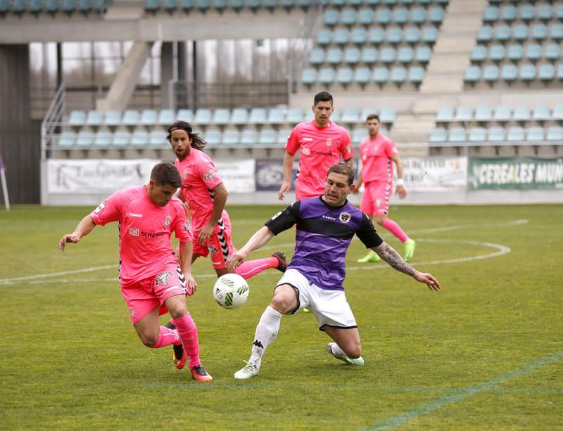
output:
POLYGON ((344 258, 354 233, 368 248, 383 243, 369 217, 348 200, 339 207, 320 197, 298 200, 265 225, 277 235, 293 224, 297 224, 295 250, 288 268, 325 290, 344 290, 344 258))

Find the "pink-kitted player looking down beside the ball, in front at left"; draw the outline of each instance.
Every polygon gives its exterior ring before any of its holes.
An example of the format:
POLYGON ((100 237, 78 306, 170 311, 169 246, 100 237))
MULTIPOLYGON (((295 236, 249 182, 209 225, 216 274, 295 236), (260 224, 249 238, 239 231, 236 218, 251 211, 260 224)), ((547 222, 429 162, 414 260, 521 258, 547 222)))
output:
POLYGON ((172 163, 158 163, 145 186, 125 188, 88 214, 72 233, 58 243, 78 243, 97 225, 119 222, 121 293, 129 319, 144 345, 153 349, 172 345, 176 368, 189 360, 191 377, 213 380, 199 359, 198 330, 186 309, 186 295, 197 288, 191 276, 191 241, 188 214, 175 193, 182 184, 172 163), (170 239, 179 239, 179 261, 170 239), (158 316, 169 311, 176 329, 160 326, 158 316))

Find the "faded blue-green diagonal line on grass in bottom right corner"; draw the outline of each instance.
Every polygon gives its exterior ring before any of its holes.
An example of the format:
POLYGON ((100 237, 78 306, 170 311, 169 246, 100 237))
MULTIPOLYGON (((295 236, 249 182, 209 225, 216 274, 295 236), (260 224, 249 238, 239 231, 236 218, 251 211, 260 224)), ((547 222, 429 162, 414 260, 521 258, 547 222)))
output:
POLYGON ((500 385, 507 380, 524 377, 529 375, 532 371, 536 371, 538 368, 543 368, 545 366, 555 364, 555 362, 563 359, 563 350, 555 352, 552 354, 545 355, 535 361, 530 362, 517 368, 516 370, 509 371, 508 373, 498 375, 491 380, 486 380, 485 382, 477 383, 476 385, 464 387, 460 390, 455 390, 452 394, 445 395, 445 397, 440 397, 431 401, 427 401, 413 409, 407 410, 403 413, 399 413, 396 416, 391 416, 384 420, 378 420, 367 428, 367 430, 391 430, 396 427, 400 427, 410 423, 410 421, 415 420, 421 416, 426 416, 438 409, 441 409, 448 404, 457 403, 457 401, 462 401, 467 397, 471 397, 473 394, 479 392, 488 392, 494 390, 495 387, 500 385))

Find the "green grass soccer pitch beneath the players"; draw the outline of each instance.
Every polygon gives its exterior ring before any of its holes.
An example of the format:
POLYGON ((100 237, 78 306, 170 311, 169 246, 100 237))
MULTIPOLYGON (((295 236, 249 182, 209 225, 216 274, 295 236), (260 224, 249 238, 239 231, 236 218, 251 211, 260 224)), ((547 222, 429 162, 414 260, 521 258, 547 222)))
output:
MULTIPOLYGON (((356 264, 365 249, 354 240, 346 291, 362 368, 329 356, 329 338, 301 312, 282 319, 260 375, 235 381, 279 272, 251 278, 246 305, 225 310, 211 295, 210 262, 196 262, 188 308, 215 378, 208 384, 176 370, 169 348, 137 339, 116 279, 116 224, 58 251, 91 209, 0 213, 2 428, 563 428, 562 205, 391 208, 417 240, 412 263, 443 290, 384 263, 356 264)), ((230 206, 235 245, 278 209, 230 206)), ((291 255, 293 231, 253 256, 277 248, 291 255)))

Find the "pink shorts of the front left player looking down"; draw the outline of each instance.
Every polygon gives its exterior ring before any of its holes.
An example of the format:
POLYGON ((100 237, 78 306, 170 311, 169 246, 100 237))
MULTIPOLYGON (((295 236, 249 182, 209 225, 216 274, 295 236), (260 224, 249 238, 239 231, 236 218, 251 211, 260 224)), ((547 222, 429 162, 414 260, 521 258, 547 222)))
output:
POLYGON ((177 264, 168 264, 157 276, 121 286, 129 319, 135 324, 160 307, 159 316, 168 312, 164 302, 171 296, 186 295, 186 278, 177 264))

